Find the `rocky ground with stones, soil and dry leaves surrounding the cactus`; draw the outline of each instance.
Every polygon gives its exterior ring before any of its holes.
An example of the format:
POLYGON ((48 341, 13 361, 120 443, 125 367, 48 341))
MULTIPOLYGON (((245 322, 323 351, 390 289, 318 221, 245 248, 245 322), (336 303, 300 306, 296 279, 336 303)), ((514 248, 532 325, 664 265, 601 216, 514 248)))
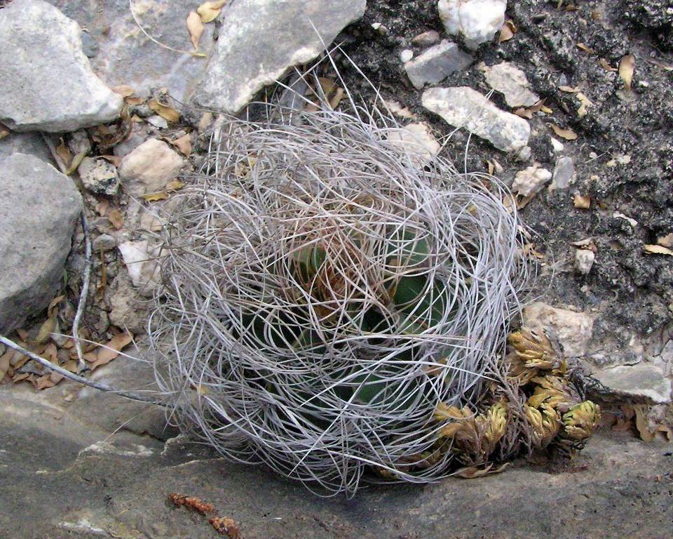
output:
POLYGON ((233 0, 211 22, 195 14, 188 29, 199 4, 134 0, 131 11, 125 0, 0 0, 0 42, 13 44, 0 49, 0 331, 76 371, 72 340, 50 333, 69 333, 79 305, 84 211, 93 244, 85 357, 94 377, 142 385, 146 373, 114 350, 131 335, 142 345, 158 213, 198 171, 214 113, 239 114, 272 95, 273 81, 321 53, 320 34, 342 44, 333 56, 343 80, 321 74, 365 102, 379 89, 411 126, 400 140, 421 142, 423 159, 440 141, 456 168, 511 187, 540 269, 524 323, 551 328, 601 382, 594 398, 609 410, 605 432, 562 474, 517 463, 482 481, 307 503, 301 487, 182 448, 156 410, 81 390, 0 350, 0 477, 11 486, 0 495, 0 535, 215 536, 165 503, 181 491, 215 502, 250 538, 664 537, 673 481, 670 4, 233 0), (460 11, 471 3, 480 16, 460 11))

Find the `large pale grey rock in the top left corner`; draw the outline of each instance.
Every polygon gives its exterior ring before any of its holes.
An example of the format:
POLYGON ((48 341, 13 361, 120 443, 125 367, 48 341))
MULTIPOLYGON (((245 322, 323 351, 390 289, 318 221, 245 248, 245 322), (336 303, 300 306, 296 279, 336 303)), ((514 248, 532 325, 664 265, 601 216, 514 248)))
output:
POLYGON ((112 121, 123 100, 93 72, 81 29, 42 0, 0 11, 0 121, 14 131, 76 131, 112 121))

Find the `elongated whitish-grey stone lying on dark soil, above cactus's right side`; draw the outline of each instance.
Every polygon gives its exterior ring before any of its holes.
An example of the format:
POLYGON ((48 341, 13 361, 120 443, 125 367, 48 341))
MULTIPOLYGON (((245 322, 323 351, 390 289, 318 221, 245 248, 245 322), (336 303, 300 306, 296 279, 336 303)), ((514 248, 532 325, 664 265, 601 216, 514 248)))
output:
POLYGON ((503 152, 519 152, 531 136, 526 120, 498 109, 467 86, 429 88, 423 92, 422 102, 423 107, 439 114, 451 126, 465 127, 503 152))

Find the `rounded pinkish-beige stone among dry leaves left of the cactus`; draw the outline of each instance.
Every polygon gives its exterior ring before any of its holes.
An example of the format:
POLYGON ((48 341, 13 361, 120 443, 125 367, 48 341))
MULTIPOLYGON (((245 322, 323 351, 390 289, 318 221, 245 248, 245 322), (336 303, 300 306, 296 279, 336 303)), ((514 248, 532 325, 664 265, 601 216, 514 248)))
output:
POLYGON ((161 140, 151 138, 126 155, 119 165, 124 190, 134 197, 160 192, 184 165, 182 157, 161 140))

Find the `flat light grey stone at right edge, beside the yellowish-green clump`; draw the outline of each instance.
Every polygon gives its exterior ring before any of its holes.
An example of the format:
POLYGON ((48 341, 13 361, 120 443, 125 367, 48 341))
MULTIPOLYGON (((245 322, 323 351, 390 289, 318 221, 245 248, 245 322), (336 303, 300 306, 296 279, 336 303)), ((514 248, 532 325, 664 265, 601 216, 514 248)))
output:
POLYGON ((612 393, 647 399, 655 404, 671 401, 671 380, 653 364, 616 366, 592 372, 612 393))

